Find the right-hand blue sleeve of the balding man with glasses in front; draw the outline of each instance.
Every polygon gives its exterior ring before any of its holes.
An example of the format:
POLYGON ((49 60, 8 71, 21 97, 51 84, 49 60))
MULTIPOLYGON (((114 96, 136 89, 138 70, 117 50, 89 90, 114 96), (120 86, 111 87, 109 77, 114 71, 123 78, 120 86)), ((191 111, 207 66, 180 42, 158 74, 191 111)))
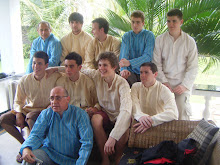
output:
POLYGON ((76 165, 84 165, 87 163, 93 147, 93 130, 86 112, 80 117, 78 131, 81 147, 79 149, 79 158, 76 160, 76 165))

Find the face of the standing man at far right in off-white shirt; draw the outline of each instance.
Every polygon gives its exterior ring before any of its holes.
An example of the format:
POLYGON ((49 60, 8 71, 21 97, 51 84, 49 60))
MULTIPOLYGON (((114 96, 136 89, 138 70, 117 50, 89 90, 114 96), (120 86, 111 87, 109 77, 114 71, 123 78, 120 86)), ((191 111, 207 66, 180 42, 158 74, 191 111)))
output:
POLYGON ((177 16, 167 17, 167 27, 170 33, 179 32, 182 24, 183 20, 180 20, 177 16))

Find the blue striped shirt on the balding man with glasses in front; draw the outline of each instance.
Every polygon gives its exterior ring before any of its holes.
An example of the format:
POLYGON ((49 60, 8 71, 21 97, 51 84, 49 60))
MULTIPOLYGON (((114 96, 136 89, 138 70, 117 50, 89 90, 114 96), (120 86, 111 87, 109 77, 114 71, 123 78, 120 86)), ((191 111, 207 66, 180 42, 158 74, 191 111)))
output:
POLYGON ((84 165, 92 146, 93 130, 87 113, 69 105, 62 118, 52 108, 43 110, 20 153, 26 147, 31 150, 41 148, 58 164, 84 165))

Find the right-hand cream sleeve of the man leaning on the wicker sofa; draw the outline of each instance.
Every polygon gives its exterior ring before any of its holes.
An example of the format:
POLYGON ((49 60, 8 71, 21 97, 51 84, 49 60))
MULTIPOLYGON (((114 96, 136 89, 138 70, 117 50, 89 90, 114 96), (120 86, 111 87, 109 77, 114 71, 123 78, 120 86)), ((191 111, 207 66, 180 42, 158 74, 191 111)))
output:
POLYGON ((178 120, 178 110, 174 94, 172 94, 167 87, 161 90, 160 98, 164 103, 164 110, 161 113, 151 116, 153 120, 152 126, 157 126, 164 122, 178 120))

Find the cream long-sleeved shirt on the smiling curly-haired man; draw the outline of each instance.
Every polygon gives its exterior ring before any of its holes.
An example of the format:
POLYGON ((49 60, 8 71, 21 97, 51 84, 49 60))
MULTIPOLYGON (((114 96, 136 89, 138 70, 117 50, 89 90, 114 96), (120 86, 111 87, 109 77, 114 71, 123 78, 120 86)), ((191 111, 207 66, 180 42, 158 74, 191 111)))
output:
POLYGON ((98 70, 83 69, 82 72, 94 80, 101 110, 112 122, 116 121, 110 136, 119 140, 131 122, 132 101, 127 81, 115 74, 111 87, 108 87, 98 70))

